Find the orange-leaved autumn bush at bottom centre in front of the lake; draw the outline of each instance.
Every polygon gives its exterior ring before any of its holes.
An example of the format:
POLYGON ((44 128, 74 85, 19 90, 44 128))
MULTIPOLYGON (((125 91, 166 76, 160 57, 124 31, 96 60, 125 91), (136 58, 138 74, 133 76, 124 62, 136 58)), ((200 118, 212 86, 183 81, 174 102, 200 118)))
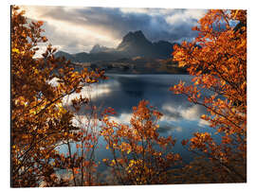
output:
POLYGON ((133 108, 130 125, 119 124, 109 118, 107 109, 102 121, 101 135, 112 152, 113 159, 103 159, 111 168, 118 184, 169 183, 168 170, 180 163, 173 153, 175 140, 159 136, 157 122, 162 116, 149 102, 141 100, 133 108))

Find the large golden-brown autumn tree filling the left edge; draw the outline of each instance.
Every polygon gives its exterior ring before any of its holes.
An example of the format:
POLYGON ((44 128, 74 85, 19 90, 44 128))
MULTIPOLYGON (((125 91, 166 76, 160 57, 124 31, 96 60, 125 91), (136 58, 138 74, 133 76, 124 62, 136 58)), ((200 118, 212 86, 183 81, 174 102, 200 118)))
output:
POLYGON ((76 72, 70 61, 54 57, 50 44, 43 58, 36 58, 38 44, 47 42, 43 22, 27 23, 24 14, 11 7, 11 186, 68 185, 56 169, 75 167, 56 148, 82 135, 63 98, 104 79, 103 72, 76 72))

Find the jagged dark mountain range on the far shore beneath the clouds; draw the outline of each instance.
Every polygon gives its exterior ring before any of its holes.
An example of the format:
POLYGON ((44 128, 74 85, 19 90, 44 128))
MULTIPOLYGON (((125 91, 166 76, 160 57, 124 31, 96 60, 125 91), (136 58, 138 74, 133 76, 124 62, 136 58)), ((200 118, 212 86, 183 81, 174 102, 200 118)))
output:
POLYGON ((95 44, 90 53, 69 54, 64 51, 56 53, 57 57, 64 56, 70 61, 92 62, 92 61, 116 61, 123 58, 149 58, 169 59, 172 57, 174 44, 159 41, 150 42, 141 30, 127 33, 117 48, 108 48, 95 44))

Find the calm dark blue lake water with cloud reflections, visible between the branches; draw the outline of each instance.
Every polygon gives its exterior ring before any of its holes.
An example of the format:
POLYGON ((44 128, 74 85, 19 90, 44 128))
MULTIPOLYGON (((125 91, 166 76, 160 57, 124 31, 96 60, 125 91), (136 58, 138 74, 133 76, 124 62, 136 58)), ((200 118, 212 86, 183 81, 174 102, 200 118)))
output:
MULTIPOLYGON (((112 107, 117 112, 113 119, 121 123, 129 123, 133 106, 137 106, 141 99, 150 101, 150 105, 157 107, 164 115, 159 121, 159 133, 161 136, 172 135, 176 140, 174 152, 181 154, 184 162, 192 160, 192 153, 182 147, 183 139, 191 138, 195 131, 212 131, 208 124, 200 119, 201 114, 206 113, 201 106, 194 105, 187 97, 174 95, 169 91, 171 86, 180 80, 190 84, 192 77, 188 75, 107 75, 104 80, 90 89, 93 102, 102 107, 112 107)), ((87 91, 82 92, 86 95, 87 91)), ((82 113, 80 113, 82 115, 82 113)), ((73 146, 75 148, 75 146, 73 146)), ((67 148, 61 148, 66 152, 67 148)), ((112 159, 105 143, 100 138, 99 148, 96 150, 96 158, 112 159)), ((101 165, 101 171, 105 167, 101 165)))

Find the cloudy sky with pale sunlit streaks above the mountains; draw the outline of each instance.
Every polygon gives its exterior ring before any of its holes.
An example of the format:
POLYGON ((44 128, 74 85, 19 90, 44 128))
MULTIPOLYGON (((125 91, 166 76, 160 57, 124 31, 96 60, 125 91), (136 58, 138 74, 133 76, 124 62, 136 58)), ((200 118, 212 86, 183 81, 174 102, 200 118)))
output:
MULTIPOLYGON (((50 44, 68 53, 89 52, 95 44, 117 47, 129 31, 152 41, 191 41, 205 9, 142 9, 22 6, 30 20, 44 21, 50 44)), ((46 45, 41 45, 42 52, 46 45)))

